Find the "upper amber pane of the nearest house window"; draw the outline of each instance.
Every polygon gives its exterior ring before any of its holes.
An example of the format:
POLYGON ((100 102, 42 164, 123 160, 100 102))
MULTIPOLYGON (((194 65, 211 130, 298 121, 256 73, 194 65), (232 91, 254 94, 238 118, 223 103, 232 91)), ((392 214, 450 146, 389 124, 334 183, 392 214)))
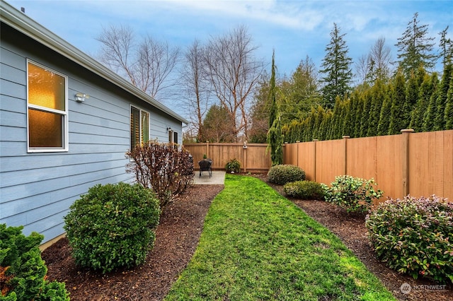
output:
POLYGON ((28 103, 64 111, 64 85, 63 76, 28 63, 28 103))

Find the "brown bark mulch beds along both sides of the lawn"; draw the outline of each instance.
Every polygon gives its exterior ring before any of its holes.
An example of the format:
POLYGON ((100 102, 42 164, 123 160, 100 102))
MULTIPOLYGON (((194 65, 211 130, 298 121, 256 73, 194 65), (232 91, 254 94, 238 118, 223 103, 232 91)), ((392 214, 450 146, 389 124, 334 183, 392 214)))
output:
MULTIPOLYGON (((266 180, 265 175, 255 176, 266 180)), ((270 186, 283 194, 282 187, 270 186)), ((207 210, 223 187, 195 185, 166 206, 156 230, 154 249, 144 264, 105 275, 79 268, 71 258, 67 239, 63 238, 42 252, 49 280, 66 283, 73 301, 163 300, 195 252, 207 210)), ((365 216, 348 216, 340 208, 323 201, 291 200, 340 237, 399 300, 453 300, 451 284, 430 286, 437 283, 415 281, 377 261, 368 244, 365 216), (411 285, 411 293, 401 293, 403 283, 411 285)))

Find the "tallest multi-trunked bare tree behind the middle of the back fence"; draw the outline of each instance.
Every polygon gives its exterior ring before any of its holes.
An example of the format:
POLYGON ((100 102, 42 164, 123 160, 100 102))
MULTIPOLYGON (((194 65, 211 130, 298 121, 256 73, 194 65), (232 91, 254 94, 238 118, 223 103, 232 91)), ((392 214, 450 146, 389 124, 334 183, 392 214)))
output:
POLYGON ((250 35, 240 26, 219 37, 212 37, 205 52, 205 72, 216 98, 231 119, 234 140, 248 137, 248 107, 252 91, 263 71, 263 61, 255 59, 250 35))

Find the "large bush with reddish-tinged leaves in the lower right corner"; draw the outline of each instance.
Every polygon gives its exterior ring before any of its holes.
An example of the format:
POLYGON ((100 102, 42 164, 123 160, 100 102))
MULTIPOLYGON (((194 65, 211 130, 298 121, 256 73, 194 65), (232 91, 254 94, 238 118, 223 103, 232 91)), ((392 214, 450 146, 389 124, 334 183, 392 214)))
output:
POLYGON ((379 204, 365 224, 377 257, 400 273, 453 282, 453 204, 437 196, 379 204))

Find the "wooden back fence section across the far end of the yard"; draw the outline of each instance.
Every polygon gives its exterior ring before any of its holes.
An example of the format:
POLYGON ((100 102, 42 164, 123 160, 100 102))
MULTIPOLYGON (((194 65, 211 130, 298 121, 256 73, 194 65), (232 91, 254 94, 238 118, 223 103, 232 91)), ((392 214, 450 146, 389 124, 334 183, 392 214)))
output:
POLYGON ((231 159, 239 160, 242 172, 268 172, 272 166, 266 143, 188 143, 184 144, 193 156, 195 169, 203 155, 212 160, 213 170, 225 170, 225 164, 231 159))

